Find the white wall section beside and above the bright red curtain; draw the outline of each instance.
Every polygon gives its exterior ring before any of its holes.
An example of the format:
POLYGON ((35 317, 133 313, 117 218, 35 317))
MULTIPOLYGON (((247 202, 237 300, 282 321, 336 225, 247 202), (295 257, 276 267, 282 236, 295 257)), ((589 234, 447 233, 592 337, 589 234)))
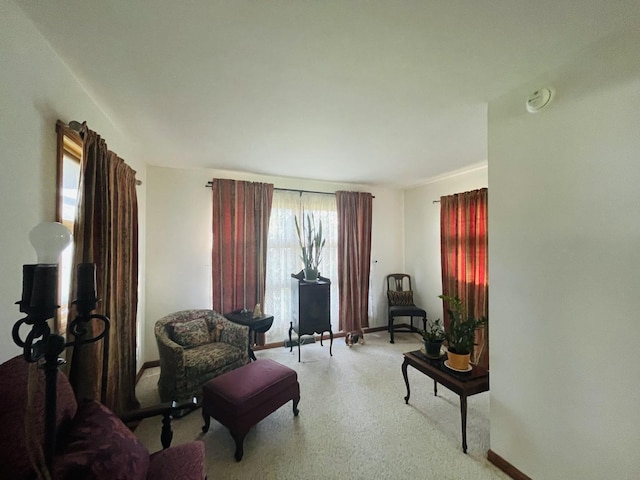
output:
POLYGON ((404 271, 414 282, 415 301, 427 311, 427 318, 443 318, 440 263, 440 204, 443 195, 468 192, 487 186, 487 163, 451 173, 405 191, 404 271))

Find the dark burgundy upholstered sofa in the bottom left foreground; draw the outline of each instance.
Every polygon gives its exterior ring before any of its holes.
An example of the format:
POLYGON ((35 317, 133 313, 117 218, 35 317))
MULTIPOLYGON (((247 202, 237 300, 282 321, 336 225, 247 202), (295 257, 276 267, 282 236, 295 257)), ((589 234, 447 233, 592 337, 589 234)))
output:
MULTIPOLYGON (((150 454, 105 406, 96 401, 77 403, 61 372, 57 375, 56 452, 47 464, 42 454, 44 384, 43 370, 22 356, 0 365, 1 480, 47 478, 46 471, 52 480, 205 478, 201 441, 150 454)), ((157 419, 160 434, 162 418, 157 419)))

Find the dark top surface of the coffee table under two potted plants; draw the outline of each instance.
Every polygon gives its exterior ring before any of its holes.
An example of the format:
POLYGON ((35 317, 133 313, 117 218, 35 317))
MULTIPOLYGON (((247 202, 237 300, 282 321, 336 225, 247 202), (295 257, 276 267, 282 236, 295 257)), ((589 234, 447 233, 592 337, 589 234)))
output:
POLYGON ((486 390, 489 389, 489 372, 485 368, 473 365, 470 372, 457 372, 444 364, 446 354, 436 359, 427 357, 421 350, 406 352, 403 355, 405 362, 449 388, 451 385, 466 390, 471 384, 482 386, 480 388, 486 384, 486 390))

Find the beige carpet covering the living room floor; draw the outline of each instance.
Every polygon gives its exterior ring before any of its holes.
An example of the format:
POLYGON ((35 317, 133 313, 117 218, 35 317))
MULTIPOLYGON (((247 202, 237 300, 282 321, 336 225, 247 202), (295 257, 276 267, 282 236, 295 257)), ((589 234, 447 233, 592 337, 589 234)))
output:
MULTIPOLYGON (((173 445, 202 439, 207 475, 215 479, 508 479, 486 460, 489 449, 489 394, 468 399, 468 453, 462 453, 458 396, 409 367, 411 399, 404 402, 402 353, 420 348, 420 337, 386 332, 365 336, 351 348, 344 339, 256 352, 298 372, 300 414, 287 403, 256 425, 234 459, 228 430, 211 420, 201 433, 200 410, 173 421, 173 445)), ((159 369, 148 369, 138 384, 143 405, 158 401, 159 369)), ((136 435, 145 446, 160 446, 160 421, 143 421, 136 435)))

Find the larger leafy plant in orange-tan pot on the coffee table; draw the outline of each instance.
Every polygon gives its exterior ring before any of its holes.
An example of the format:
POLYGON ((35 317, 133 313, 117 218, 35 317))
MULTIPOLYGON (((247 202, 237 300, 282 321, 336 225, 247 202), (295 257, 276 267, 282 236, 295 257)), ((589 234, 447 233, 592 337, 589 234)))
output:
POLYGON ((469 359, 476 345, 476 330, 487 323, 485 317, 473 318, 465 311, 458 297, 439 295, 449 304, 449 328, 445 331, 447 360, 455 370, 468 370, 469 359))

